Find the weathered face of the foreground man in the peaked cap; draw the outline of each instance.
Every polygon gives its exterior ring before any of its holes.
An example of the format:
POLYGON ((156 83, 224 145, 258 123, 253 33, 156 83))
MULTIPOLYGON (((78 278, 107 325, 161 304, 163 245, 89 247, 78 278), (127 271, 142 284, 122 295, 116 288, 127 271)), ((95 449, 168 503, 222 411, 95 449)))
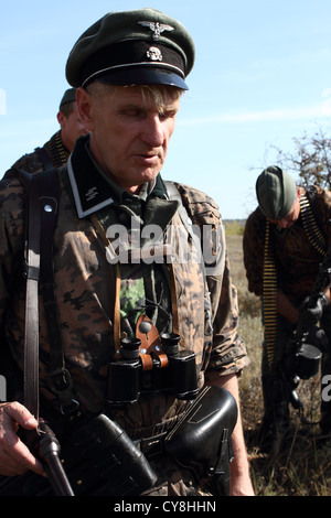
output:
POLYGON ((166 96, 161 109, 137 86, 106 88, 92 96, 79 90, 77 101, 92 132, 95 160, 121 187, 137 192, 164 163, 179 98, 166 96))

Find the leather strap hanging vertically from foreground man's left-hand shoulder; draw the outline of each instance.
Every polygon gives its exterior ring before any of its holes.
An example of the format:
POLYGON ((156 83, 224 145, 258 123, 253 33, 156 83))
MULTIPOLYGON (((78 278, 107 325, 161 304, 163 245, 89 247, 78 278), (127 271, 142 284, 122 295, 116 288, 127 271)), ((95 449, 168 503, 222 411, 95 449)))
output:
MULTIPOLYGON (((19 171, 28 193, 28 224, 25 244, 25 334, 24 334, 24 404, 39 419, 39 281, 50 270, 43 265, 41 251, 51 247, 56 226, 58 205, 58 173, 42 174, 19 171)), ((52 257, 47 250, 45 257, 52 257)), ((47 313, 47 312, 46 312, 47 313)))

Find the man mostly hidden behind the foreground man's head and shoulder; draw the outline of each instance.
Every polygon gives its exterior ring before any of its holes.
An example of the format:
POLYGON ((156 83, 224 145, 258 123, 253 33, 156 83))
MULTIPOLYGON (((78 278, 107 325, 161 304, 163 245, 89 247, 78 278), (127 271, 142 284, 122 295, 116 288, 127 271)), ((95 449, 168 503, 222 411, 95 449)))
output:
POLYGON ((86 134, 86 129, 77 112, 76 88, 65 90, 60 101, 56 118, 61 127, 60 130, 43 147, 21 157, 6 172, 6 177, 15 176, 18 169, 36 173, 46 169, 66 165, 76 140, 86 134))

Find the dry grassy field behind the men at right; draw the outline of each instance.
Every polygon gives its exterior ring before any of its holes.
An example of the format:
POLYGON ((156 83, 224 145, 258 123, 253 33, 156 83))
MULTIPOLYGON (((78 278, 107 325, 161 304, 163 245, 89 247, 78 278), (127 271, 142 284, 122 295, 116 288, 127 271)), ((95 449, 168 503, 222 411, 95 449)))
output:
MULTIPOLYGON (((290 438, 277 457, 269 458, 258 451, 257 431, 263 417, 260 388, 260 350, 263 328, 259 300, 248 293, 243 266, 243 223, 226 223, 226 240, 234 284, 238 291, 239 333, 250 358, 239 378, 244 432, 257 496, 331 496, 331 440, 319 439, 318 425, 303 424, 291 409, 290 438)), ((305 404, 305 416, 319 420, 319 376, 301 381, 298 396, 305 404)))

